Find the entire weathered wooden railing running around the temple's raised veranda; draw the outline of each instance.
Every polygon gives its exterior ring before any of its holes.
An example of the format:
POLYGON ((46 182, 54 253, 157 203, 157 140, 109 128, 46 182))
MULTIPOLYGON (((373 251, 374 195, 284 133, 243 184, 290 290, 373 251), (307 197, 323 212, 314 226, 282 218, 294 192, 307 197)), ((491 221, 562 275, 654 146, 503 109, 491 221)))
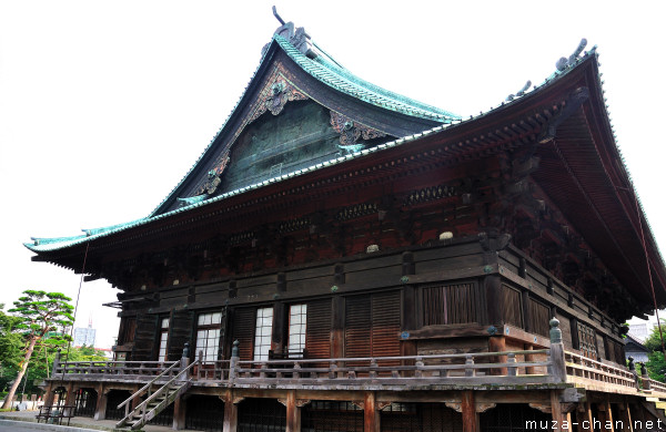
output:
MULTIPOLYGON (((190 376, 201 383, 215 382, 228 388, 275 388, 375 385, 396 389, 420 385, 522 385, 571 384, 589 390, 623 393, 666 394, 666 384, 640 376, 630 368, 608 364, 564 351, 559 321, 551 320, 551 347, 543 350, 430 354, 381 358, 241 360, 239 342, 230 360, 204 362, 201 353, 190 376)), ((75 379, 99 374, 154 377, 164 372, 161 362, 68 362, 53 367, 53 378, 75 374, 75 379)), ((175 368, 170 373, 180 373, 175 368)), ((74 378, 74 377, 72 377, 74 378)))

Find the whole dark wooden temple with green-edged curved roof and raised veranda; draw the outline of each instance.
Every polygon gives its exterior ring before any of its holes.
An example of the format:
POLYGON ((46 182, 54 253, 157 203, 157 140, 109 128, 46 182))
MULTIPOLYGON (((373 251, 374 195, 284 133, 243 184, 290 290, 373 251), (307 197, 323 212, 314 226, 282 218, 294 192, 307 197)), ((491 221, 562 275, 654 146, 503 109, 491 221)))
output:
POLYGON ((282 23, 151 215, 26 245, 120 290, 114 361, 60 359, 47 403, 128 429, 656 429, 666 385, 620 323, 666 305, 666 270, 595 50, 462 120, 282 23))

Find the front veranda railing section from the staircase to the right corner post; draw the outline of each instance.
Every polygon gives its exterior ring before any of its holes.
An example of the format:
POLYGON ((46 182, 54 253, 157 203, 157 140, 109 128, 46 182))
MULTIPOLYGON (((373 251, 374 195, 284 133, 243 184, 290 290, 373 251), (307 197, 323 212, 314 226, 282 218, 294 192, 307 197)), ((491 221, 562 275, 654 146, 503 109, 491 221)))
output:
POLYGON ((527 384, 553 382, 548 373, 552 366, 549 350, 266 361, 234 361, 232 358, 229 383, 233 387, 265 383, 322 388, 369 382, 381 385, 527 384), (516 360, 525 354, 542 354, 544 360, 516 360))

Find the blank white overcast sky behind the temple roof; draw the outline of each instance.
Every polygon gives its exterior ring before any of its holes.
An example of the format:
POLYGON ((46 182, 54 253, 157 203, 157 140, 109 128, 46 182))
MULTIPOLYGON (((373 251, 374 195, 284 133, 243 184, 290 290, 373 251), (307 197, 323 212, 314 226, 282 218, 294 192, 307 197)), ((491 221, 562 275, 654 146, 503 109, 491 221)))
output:
MULTIPOLYGON (((666 101, 657 1, 0 0, 0 302, 78 297, 32 263, 31 237, 148 216, 224 124, 285 21, 360 78, 470 116, 542 83, 582 38, 598 45, 618 145, 666 251, 666 101)), ((77 327, 118 332, 117 289, 81 286, 77 327)), ((7 308, 6 308, 7 309, 7 308)))

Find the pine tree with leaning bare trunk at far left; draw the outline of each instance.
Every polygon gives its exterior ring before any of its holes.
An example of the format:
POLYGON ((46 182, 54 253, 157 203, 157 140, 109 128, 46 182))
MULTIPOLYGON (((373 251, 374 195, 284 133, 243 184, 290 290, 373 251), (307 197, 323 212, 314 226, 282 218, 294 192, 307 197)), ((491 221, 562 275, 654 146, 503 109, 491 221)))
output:
POLYGON ((20 319, 16 328, 21 331, 24 346, 18 374, 4 398, 3 409, 11 408, 11 400, 26 374, 37 343, 48 346, 64 343, 69 339, 64 335, 64 329, 74 321, 71 315, 74 307, 69 304, 71 298, 60 292, 37 290, 26 290, 23 294, 26 296, 19 297, 19 300, 13 302, 14 308, 9 309, 9 312, 20 319))

